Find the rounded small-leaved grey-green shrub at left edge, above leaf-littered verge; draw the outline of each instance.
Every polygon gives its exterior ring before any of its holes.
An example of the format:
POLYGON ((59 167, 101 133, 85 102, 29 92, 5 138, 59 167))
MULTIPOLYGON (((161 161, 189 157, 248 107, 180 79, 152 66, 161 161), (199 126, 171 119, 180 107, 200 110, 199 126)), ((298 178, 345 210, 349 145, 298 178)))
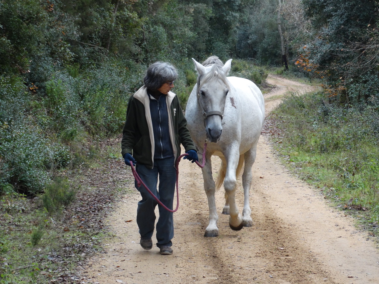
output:
POLYGON ((24 194, 41 191, 53 170, 70 163, 67 146, 51 142, 28 120, 4 122, 0 128, 0 184, 12 184, 24 194))

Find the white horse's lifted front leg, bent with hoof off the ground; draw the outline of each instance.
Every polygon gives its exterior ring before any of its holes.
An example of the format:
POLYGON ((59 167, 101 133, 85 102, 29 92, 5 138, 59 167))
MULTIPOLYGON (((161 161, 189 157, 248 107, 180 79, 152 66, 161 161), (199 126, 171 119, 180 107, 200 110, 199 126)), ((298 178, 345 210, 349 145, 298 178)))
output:
POLYGON ((224 155, 227 161, 226 175, 224 179, 225 192, 229 201, 229 226, 233 230, 239 231, 243 228, 242 214, 236 204, 235 191, 237 187, 236 169, 240 154, 238 150, 232 149, 231 153, 224 155))

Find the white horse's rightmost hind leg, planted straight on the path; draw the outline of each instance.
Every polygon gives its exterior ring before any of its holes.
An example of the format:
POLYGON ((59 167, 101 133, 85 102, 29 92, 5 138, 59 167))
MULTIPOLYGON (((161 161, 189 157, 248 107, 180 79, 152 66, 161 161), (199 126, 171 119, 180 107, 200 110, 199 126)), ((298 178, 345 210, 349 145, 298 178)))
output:
POLYGON ((244 227, 251 227, 253 225, 253 220, 251 219, 251 216, 250 216, 251 208, 250 208, 249 194, 250 194, 251 181, 252 181, 251 168, 254 164, 256 155, 257 155, 256 147, 251 148, 249 151, 247 151, 244 154, 245 165, 244 165, 244 170, 243 170, 243 175, 242 175, 242 186, 243 186, 243 193, 244 193, 242 223, 244 227))

